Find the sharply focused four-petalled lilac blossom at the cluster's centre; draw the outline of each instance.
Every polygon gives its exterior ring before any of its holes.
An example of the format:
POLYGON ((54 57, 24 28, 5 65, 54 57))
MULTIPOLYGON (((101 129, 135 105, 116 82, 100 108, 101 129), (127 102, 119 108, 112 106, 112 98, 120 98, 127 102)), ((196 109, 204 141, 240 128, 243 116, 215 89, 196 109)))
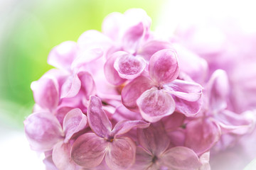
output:
POLYGON ((171 115, 175 109, 194 116, 201 108, 202 87, 192 81, 177 79, 176 52, 171 49, 156 52, 149 61, 149 77, 131 81, 122 91, 124 106, 138 110, 142 118, 156 122, 171 115))

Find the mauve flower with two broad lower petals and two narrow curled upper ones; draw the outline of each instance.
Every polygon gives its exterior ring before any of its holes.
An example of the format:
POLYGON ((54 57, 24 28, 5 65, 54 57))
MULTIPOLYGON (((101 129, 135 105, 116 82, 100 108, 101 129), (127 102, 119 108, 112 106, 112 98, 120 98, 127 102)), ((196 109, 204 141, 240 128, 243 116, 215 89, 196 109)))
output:
POLYGON ((110 169, 132 166, 136 145, 123 135, 132 128, 146 128, 149 123, 127 120, 117 123, 112 129, 112 123, 102 109, 102 101, 96 96, 90 96, 87 117, 93 132, 80 135, 75 140, 71 151, 73 161, 85 168, 98 166, 104 158, 110 169))

